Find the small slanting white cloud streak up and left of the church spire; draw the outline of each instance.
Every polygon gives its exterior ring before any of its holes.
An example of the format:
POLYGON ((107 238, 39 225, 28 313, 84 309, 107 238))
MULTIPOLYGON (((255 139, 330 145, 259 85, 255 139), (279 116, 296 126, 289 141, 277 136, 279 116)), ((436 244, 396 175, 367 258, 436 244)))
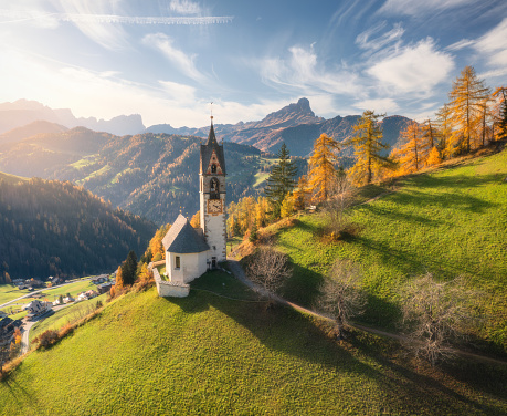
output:
POLYGON ((150 33, 142 39, 142 42, 162 52, 163 56, 183 75, 201 83, 205 81, 205 76, 196 67, 196 55, 187 55, 183 51, 175 48, 173 40, 168 35, 150 33))

